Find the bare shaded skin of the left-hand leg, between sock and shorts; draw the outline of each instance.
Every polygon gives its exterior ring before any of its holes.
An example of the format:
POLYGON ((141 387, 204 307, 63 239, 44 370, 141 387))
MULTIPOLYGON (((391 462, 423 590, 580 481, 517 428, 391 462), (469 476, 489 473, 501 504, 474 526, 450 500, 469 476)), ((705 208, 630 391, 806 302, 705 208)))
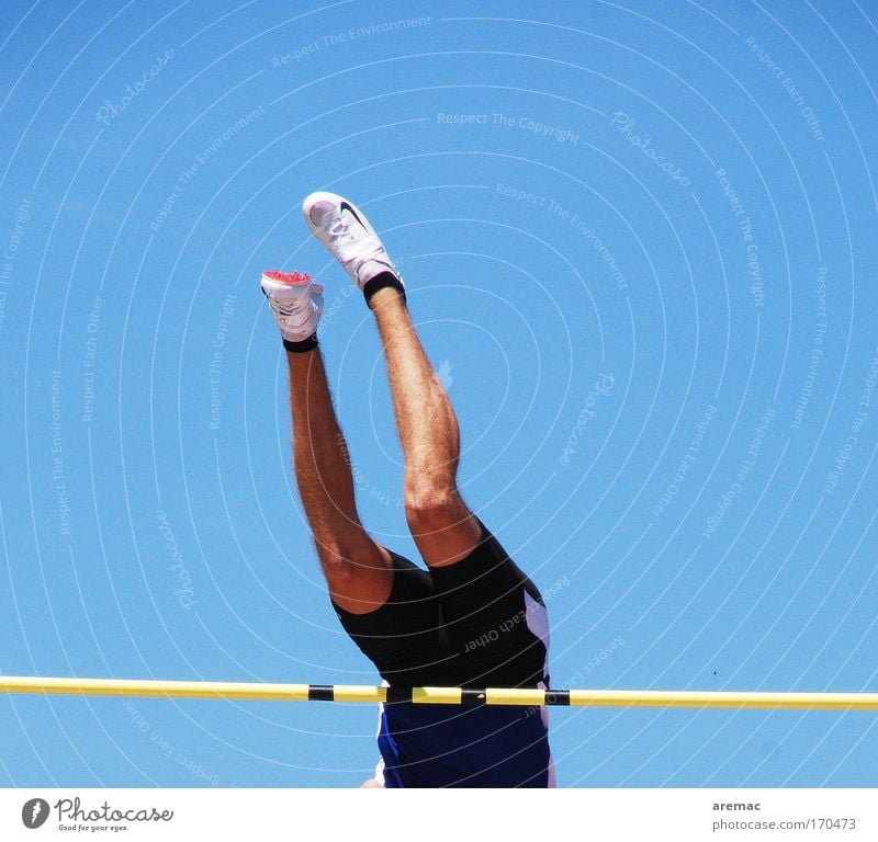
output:
POLYGON ((295 477, 317 555, 333 601, 351 614, 365 614, 390 595, 390 555, 360 523, 348 448, 319 349, 286 357, 295 477))

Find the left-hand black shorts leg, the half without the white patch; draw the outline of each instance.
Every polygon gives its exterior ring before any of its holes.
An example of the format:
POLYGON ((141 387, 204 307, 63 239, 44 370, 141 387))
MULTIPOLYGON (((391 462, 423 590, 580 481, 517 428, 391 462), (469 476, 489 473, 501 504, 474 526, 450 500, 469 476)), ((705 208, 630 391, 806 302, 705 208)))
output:
POLYGON ((453 683, 455 662, 429 573, 391 551, 393 584, 387 601, 367 614, 333 603, 341 625, 392 686, 453 683))

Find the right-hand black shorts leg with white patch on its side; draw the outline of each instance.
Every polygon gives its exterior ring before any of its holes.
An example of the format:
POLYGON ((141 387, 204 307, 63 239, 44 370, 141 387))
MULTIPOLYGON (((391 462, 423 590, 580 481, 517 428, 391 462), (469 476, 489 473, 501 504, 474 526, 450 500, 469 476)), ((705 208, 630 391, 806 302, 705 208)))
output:
POLYGON ((536 686, 548 682, 549 622, 540 592, 479 522, 476 548, 430 568, 460 684, 536 686))

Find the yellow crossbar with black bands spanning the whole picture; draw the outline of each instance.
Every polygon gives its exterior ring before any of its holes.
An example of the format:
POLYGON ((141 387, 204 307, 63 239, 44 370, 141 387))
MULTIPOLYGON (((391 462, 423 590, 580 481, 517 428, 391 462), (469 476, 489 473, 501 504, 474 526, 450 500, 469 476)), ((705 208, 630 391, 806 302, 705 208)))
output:
POLYGON ((229 681, 0 676, 0 693, 224 698, 239 702, 413 702, 426 705, 688 707, 739 710, 878 710, 878 693, 777 693, 683 690, 536 690, 379 687, 359 684, 268 684, 229 681))

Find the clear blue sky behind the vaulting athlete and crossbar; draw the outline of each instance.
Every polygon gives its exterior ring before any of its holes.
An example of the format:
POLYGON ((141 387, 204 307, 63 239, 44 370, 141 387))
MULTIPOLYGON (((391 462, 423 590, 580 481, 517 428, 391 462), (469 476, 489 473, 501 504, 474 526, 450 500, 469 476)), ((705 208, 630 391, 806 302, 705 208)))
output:
MULTIPOLYGON (((259 274, 326 284, 414 554, 357 202, 544 590, 556 686, 878 691, 878 3, 9 2, 0 672, 375 683, 259 274), (206 15, 206 16, 205 16, 206 15)), ((564 786, 878 785, 870 714, 553 712, 564 786)), ((0 698, 0 784, 349 786, 367 706, 0 698)))

